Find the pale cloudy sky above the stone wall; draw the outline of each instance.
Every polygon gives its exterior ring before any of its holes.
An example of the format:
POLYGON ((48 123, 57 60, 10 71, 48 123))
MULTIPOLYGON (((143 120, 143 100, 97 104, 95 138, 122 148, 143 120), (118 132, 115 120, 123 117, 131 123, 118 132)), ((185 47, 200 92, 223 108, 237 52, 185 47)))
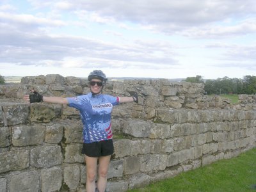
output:
POLYGON ((0 75, 256 76, 255 0, 1 0, 0 75))

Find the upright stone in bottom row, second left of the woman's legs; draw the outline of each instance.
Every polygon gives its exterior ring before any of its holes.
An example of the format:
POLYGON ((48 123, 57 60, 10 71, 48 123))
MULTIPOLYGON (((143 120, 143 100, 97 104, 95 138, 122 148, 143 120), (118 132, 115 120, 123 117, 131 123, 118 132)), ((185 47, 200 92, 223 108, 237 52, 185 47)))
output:
POLYGON ((59 167, 41 170, 42 192, 60 191, 62 184, 62 171, 59 167))

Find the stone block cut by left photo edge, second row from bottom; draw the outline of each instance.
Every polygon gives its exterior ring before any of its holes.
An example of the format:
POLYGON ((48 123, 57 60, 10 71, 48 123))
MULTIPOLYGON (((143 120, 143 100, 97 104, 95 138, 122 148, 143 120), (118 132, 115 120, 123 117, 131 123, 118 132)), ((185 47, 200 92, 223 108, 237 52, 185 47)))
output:
POLYGON ((28 150, 3 152, 0 156, 0 173, 24 170, 29 166, 28 150))

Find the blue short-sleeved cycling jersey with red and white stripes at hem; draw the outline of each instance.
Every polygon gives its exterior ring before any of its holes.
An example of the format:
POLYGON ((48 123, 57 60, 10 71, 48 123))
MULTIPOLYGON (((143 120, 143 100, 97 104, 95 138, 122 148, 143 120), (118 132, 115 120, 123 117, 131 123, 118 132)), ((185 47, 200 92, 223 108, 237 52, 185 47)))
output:
POLYGON ((83 142, 110 140, 113 138, 111 129, 111 112, 113 106, 119 104, 119 97, 111 95, 81 95, 68 97, 68 106, 80 111, 83 122, 83 142))

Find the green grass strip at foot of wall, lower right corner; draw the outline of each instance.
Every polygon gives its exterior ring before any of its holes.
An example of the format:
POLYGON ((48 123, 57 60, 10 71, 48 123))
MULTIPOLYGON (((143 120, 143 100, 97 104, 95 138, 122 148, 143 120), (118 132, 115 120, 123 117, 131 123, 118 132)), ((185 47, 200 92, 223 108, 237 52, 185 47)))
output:
POLYGON ((232 159, 221 159, 215 163, 171 179, 154 182, 141 189, 129 192, 154 191, 256 191, 256 148, 232 159))

